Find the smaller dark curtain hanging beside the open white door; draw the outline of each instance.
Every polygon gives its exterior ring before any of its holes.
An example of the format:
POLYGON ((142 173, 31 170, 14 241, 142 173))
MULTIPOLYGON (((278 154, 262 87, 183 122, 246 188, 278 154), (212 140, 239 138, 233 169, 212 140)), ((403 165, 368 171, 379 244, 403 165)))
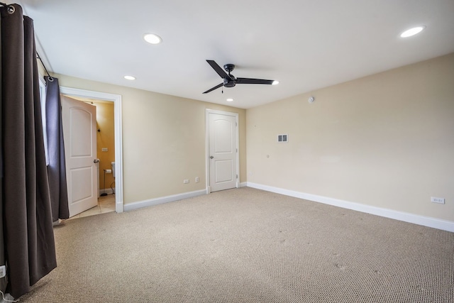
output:
POLYGON ((68 219, 68 192, 66 184, 65 145, 63 142, 62 102, 58 79, 45 77, 45 121, 48 135, 48 174, 52 221, 68 219))

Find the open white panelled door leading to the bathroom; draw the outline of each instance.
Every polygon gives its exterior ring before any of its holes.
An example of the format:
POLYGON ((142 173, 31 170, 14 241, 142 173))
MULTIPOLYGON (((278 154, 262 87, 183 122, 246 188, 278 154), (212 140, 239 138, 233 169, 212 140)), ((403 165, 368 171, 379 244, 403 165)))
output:
POLYGON ((98 204, 96 106, 62 96, 63 138, 70 216, 98 204))

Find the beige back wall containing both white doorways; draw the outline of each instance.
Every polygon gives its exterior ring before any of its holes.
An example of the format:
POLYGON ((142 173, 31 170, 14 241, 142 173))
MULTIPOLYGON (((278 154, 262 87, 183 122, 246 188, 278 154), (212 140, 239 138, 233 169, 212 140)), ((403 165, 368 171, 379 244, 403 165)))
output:
POLYGON ((206 188, 205 110, 238 113, 240 182, 246 181, 245 110, 55 75, 63 87, 120 94, 125 204, 206 188), (200 182, 194 182, 195 177, 200 182), (183 184, 189 179, 189 184, 183 184))

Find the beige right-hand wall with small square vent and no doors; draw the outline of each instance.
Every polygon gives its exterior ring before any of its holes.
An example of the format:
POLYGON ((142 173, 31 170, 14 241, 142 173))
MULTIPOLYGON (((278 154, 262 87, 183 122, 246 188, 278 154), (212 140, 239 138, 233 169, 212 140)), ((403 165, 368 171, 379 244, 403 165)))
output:
POLYGON ((454 221, 454 54, 248 109, 246 119, 248 182, 454 221))

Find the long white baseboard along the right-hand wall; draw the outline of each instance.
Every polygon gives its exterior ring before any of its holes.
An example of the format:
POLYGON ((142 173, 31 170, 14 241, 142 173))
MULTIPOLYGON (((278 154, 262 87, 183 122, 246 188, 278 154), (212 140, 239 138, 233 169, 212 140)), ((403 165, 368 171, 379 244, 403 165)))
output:
POLYGON ((314 202, 320 202, 323 204, 329 204, 333 206, 342 207, 344 209, 352 209, 355 211, 365 212, 367 214, 375 214, 377 216, 384 216, 389 219, 395 219, 399 221, 409 222, 422 226, 428 226, 432 228, 441 229, 443 231, 454 232, 454 221, 441 220, 428 216, 420 216, 417 214, 411 214, 404 211, 395 211, 392 209, 384 209, 381 207, 370 206, 355 202, 348 202, 341 199, 334 199, 330 197, 323 197, 316 194, 306 194, 304 192, 295 192, 293 190, 282 189, 279 187, 271 187, 262 184, 256 184, 252 182, 246 182, 248 187, 256 189, 262 189, 267 192, 275 192, 277 194, 284 194, 290 197, 296 197, 300 199, 310 200, 314 202))

